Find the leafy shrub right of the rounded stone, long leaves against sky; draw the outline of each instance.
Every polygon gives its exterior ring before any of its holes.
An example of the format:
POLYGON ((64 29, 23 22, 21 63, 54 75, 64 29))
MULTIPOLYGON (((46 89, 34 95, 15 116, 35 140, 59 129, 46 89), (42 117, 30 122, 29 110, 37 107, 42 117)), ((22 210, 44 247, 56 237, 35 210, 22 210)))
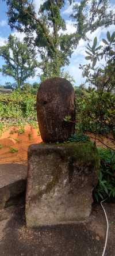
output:
MULTIPOLYGON (((89 83, 88 89, 82 89, 82 95, 76 98, 78 126, 93 133, 109 133, 115 129, 115 33, 107 33, 103 40, 105 46, 97 47, 95 37, 93 46, 87 44, 86 59, 91 63, 80 66, 83 77, 89 83), (106 45, 108 46, 106 47, 106 45), (105 57, 103 68, 95 67, 97 60, 105 57)), ((76 92, 77 93, 77 92, 76 92)), ((80 127, 80 128, 82 128, 80 127)))

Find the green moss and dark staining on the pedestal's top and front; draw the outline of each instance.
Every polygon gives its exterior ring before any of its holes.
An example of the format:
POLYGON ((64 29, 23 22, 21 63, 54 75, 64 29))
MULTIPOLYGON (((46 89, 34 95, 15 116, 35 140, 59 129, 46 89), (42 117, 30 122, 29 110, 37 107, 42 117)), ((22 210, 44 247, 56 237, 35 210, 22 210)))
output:
MULTIPOLYGON (((73 169, 72 163, 74 161, 77 161, 80 165, 82 164, 84 167, 86 165, 91 165, 93 167, 92 170, 97 174, 99 170, 99 155, 98 150, 94 146, 93 142, 86 141, 86 142, 64 142, 62 144, 42 144, 40 145, 40 148, 47 149, 45 151, 46 154, 56 153, 59 154, 59 156, 64 160, 65 163, 68 163, 68 171, 69 165, 71 170, 73 169)), ((41 150, 43 153, 43 150, 41 150)), ((73 170, 71 171, 71 174, 68 173, 69 179, 71 180, 73 170)), ((58 167, 56 172, 53 172, 53 178, 51 182, 48 182, 47 185, 43 190, 38 191, 37 195, 32 197, 34 199, 38 199, 38 197, 42 197, 44 194, 50 193, 50 191, 53 189, 53 187, 56 186, 56 184, 60 180, 60 176, 62 175, 62 168, 58 167)))

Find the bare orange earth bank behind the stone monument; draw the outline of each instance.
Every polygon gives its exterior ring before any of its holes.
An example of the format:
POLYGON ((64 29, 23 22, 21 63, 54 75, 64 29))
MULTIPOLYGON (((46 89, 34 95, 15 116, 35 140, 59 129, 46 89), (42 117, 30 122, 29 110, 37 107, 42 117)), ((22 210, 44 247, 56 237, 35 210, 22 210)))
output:
MULTIPOLYGON (((91 140, 94 141, 94 135, 88 134, 91 140)), ((110 134, 108 137, 113 138, 110 134)), ((115 143, 110 138, 104 136, 97 136, 97 146, 108 145, 110 148, 115 149, 115 143), (101 143, 102 142, 102 143, 101 143)), ((2 133, 0 137, 0 164, 3 163, 26 163, 28 146, 30 144, 36 144, 42 142, 37 129, 33 129, 32 126, 26 125, 24 127, 24 133, 18 134, 17 127, 11 127, 2 133), (2 145, 2 146, 1 146, 2 145), (11 148, 17 149, 18 152, 10 152, 11 148)))

